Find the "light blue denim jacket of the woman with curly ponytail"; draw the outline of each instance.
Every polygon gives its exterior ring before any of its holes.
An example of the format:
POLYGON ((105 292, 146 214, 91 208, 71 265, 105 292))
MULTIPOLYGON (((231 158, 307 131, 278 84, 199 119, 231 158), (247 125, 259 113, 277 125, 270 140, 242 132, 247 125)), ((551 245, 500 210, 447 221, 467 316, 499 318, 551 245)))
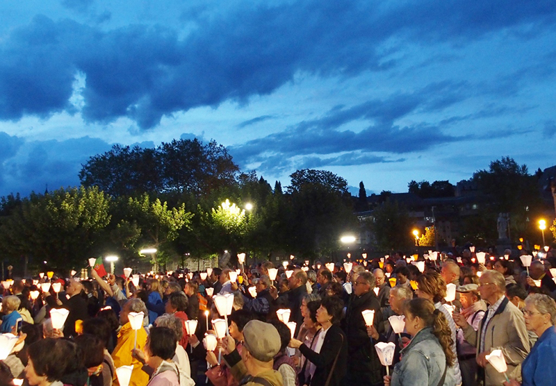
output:
MULTIPOLYGON (((401 351, 402 360, 392 372, 391 386, 438 386, 446 367, 446 356, 432 328, 420 330, 401 351)), ((453 369, 446 371, 444 386, 455 386, 453 369)))

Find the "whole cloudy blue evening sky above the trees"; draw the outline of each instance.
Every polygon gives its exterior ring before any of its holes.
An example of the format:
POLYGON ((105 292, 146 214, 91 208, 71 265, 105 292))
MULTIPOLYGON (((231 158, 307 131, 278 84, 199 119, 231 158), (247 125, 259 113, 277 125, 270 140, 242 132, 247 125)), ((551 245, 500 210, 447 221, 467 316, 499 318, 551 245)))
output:
POLYGON ((555 165, 554 1, 0 3, 0 195, 113 144, 199 137, 288 185, 555 165))

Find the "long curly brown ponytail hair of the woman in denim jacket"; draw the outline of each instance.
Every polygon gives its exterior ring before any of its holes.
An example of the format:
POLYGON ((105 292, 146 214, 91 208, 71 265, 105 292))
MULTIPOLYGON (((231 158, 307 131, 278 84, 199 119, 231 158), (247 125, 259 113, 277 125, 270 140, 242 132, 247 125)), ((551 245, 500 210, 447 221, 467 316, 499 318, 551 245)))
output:
POLYGON ((432 327, 432 333, 439 339, 442 351, 446 357, 446 364, 452 366, 457 360, 452 351, 452 330, 448 320, 440 310, 434 308, 434 304, 429 299, 415 298, 405 303, 405 312, 423 320, 425 327, 432 327))

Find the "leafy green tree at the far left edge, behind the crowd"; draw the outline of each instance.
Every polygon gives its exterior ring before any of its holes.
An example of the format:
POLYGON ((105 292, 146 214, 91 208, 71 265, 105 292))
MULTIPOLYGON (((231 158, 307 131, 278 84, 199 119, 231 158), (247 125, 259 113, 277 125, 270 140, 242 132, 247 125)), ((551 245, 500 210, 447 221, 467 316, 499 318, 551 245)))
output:
POLYGON ((1 218, 0 246, 12 258, 34 258, 35 265, 83 267, 98 252, 109 207, 110 198, 97 187, 32 193, 1 218))

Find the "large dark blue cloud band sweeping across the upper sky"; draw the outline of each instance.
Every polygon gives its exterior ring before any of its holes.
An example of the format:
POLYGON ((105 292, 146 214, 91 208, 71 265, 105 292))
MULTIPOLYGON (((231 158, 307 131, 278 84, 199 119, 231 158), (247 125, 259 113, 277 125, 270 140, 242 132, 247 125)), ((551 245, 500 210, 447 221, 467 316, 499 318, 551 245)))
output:
MULTIPOLYGON (((63 1, 83 10, 91 2, 63 1)), ((105 31, 38 16, 0 44, 0 119, 72 112, 68 99, 81 72, 87 121, 129 117, 152 128, 174 112, 270 94, 298 72, 349 77, 390 69, 398 62, 389 54, 403 49, 395 41, 461 45, 525 24, 541 33, 555 23, 555 13, 556 3, 548 0, 245 3, 217 15, 202 8, 184 12, 196 26, 184 38, 167 26, 105 31)), ((439 97, 427 108, 461 96, 452 98, 439 97)), ((412 108, 404 102, 393 106, 392 117, 412 108)))

